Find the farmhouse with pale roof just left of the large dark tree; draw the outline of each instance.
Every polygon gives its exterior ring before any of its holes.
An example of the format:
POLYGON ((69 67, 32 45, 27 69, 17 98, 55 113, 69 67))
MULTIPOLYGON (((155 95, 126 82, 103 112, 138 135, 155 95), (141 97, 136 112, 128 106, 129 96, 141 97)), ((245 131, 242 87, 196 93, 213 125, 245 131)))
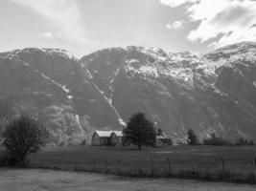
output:
POLYGON ((118 146, 122 145, 122 131, 96 131, 92 135, 92 146, 118 146))

